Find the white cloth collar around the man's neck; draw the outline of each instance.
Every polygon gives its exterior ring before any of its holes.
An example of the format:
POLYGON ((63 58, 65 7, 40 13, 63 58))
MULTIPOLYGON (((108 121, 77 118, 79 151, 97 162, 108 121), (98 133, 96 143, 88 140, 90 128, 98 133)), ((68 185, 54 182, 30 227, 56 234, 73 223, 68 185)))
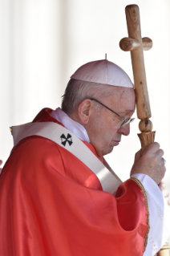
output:
POLYGON ((53 112, 51 112, 50 116, 62 123, 69 131, 73 132, 75 136, 79 137, 79 139, 90 143, 87 130, 83 127, 83 125, 72 120, 65 112, 63 112, 63 110, 61 110, 61 108, 56 108, 53 112))

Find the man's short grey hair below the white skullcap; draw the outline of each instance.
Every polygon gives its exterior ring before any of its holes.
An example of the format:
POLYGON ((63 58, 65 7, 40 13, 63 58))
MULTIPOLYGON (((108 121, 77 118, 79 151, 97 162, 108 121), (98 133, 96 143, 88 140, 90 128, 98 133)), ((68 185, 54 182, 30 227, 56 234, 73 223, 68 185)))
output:
MULTIPOLYGON (((112 89, 113 86, 103 83, 70 79, 63 95, 62 110, 67 114, 72 114, 83 100, 91 98, 101 100, 111 95, 112 89)), ((99 108, 103 108, 101 105, 99 106, 99 108)))

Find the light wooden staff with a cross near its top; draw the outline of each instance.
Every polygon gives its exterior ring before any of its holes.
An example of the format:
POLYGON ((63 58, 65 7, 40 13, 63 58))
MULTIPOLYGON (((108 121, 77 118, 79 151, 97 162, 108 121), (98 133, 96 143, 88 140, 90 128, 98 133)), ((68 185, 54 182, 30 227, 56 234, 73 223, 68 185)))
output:
MULTIPOLYGON (((123 51, 131 51, 132 69, 136 91, 137 116, 140 119, 140 143, 142 152, 152 144, 155 133, 152 132, 151 108, 148 97, 146 73, 144 68, 144 53, 152 48, 152 40, 141 38, 140 30, 140 10, 136 5, 126 6, 128 38, 123 38, 119 42, 119 47, 123 51)), ((169 246, 166 243, 157 256, 170 256, 169 246)))

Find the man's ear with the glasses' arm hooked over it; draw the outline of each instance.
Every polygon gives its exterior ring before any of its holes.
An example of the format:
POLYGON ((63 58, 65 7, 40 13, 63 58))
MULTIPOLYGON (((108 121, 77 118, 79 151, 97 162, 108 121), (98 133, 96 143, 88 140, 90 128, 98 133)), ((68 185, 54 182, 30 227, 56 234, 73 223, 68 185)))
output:
POLYGON ((82 124, 87 124, 93 112, 91 100, 83 100, 78 107, 78 116, 82 124))

